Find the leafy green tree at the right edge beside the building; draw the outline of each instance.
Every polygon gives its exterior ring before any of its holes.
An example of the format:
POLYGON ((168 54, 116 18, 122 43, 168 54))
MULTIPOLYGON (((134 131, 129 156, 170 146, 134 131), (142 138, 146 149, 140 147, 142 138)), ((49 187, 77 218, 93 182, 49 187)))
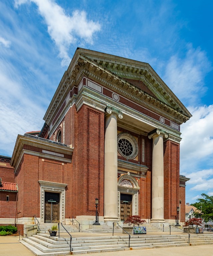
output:
POLYGON ((213 196, 201 194, 203 198, 197 199, 198 202, 191 204, 198 210, 194 212, 195 218, 202 218, 205 222, 213 221, 213 196))

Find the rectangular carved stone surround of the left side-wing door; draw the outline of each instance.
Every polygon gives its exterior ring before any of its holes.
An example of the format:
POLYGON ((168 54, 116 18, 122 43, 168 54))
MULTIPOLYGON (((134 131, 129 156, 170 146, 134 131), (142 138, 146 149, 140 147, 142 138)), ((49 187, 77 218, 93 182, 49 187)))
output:
POLYGON ((45 192, 56 192, 60 193, 60 222, 65 224, 65 187, 67 184, 50 182, 39 180, 38 181, 41 188, 41 197, 40 197, 40 223, 44 223, 44 214, 45 214, 45 192))

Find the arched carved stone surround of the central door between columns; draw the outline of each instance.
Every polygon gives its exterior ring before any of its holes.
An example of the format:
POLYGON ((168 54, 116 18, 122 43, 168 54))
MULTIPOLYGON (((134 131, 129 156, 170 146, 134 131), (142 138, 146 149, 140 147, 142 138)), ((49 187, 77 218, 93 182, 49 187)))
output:
POLYGON ((132 194, 132 215, 138 215, 138 191, 140 187, 137 180, 130 175, 121 174, 118 179, 118 216, 120 217, 120 193, 132 194), (125 184, 125 180, 127 184, 125 184), (123 181, 123 182, 122 182, 123 181))

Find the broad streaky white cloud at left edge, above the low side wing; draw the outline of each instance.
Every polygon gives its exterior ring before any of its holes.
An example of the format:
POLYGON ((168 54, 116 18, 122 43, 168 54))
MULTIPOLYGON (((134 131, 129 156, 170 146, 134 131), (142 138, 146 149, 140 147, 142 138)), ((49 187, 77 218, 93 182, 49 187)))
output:
POLYGON ((17 134, 39 130, 44 113, 33 95, 22 85, 17 71, 0 60, 0 145, 4 154, 11 155, 17 134), (5 66, 6 65, 6 66, 5 66), (4 67, 5 66, 5 67, 4 67), (13 75, 11 76, 11 72, 13 75))

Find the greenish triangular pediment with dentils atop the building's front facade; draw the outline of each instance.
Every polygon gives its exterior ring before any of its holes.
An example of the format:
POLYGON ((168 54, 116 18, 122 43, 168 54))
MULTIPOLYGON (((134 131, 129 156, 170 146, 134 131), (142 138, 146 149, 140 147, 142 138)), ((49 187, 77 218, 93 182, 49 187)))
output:
POLYGON ((192 116, 148 63, 82 48, 78 48, 76 53, 125 79, 186 117, 192 116))

